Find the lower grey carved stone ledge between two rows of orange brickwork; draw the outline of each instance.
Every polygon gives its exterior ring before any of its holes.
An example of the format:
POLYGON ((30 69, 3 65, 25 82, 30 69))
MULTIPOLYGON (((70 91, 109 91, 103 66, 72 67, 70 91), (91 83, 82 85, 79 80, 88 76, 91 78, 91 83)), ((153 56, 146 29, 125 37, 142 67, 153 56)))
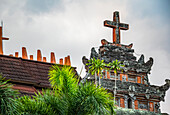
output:
MULTIPOLYGON (((166 80, 166 83, 162 86, 146 86, 144 84, 132 83, 132 82, 122 82, 120 80, 116 81, 117 83, 117 93, 126 94, 130 97, 139 96, 144 94, 146 99, 151 98, 160 98, 160 101, 164 101, 165 92, 170 87, 170 80, 166 80)), ((115 81, 110 79, 101 80, 102 87, 114 90, 115 81)))

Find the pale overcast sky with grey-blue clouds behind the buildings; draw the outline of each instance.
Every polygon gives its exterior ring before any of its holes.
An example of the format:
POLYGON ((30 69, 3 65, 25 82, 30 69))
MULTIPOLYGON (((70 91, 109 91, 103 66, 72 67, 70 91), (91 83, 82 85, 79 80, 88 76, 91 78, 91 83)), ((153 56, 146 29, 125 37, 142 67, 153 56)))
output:
MULTIPOLYGON (((112 30, 103 26, 120 12, 120 21, 129 24, 121 31, 121 43, 133 43, 137 58, 154 58, 150 83, 163 85, 170 79, 170 1, 169 0, 0 0, 0 20, 4 22, 4 53, 14 54, 23 46, 36 59, 37 49, 50 59, 71 56, 78 73, 82 57, 89 58, 91 47, 101 39, 112 42, 112 30)), ((83 69, 83 74, 85 70, 83 69)), ((170 89, 162 112, 170 113, 170 89)))

